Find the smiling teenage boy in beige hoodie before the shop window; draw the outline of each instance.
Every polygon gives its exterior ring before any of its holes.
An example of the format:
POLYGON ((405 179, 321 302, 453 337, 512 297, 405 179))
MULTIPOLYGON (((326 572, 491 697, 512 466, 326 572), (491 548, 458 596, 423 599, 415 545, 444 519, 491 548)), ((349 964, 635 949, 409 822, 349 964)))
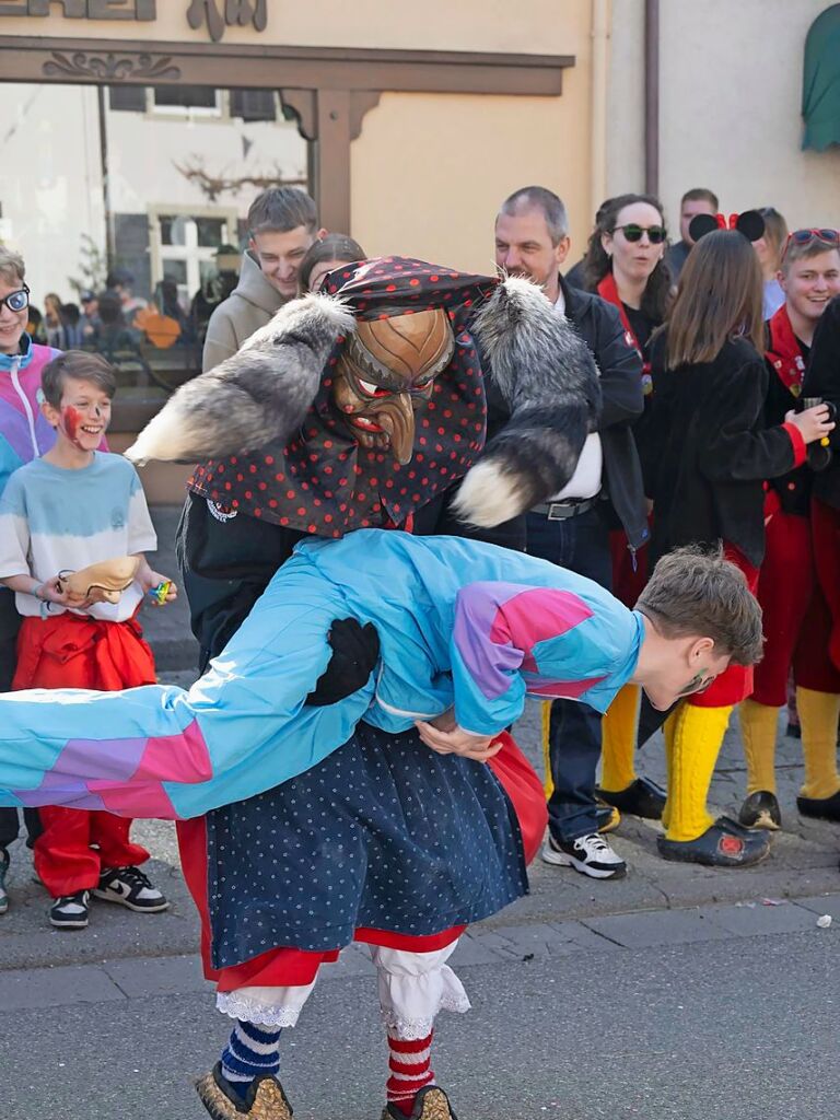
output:
POLYGON ((297 187, 270 187, 258 195, 248 212, 248 231, 240 282, 207 325, 204 373, 235 354, 254 330, 295 299, 300 262, 326 232, 318 230, 315 203, 297 187))

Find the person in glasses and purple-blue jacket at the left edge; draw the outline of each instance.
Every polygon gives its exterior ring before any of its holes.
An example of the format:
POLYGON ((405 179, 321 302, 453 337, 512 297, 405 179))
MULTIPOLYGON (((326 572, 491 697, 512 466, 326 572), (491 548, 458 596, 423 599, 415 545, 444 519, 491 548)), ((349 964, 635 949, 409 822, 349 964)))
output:
MULTIPOLYGON (((44 366, 59 352, 37 345, 27 334, 29 289, 25 274, 22 258, 0 245, 0 496, 13 470, 44 455, 55 442, 55 431, 41 416, 37 395, 44 366)), ((13 594, 0 588, 0 692, 11 688, 20 620, 13 594)), ((37 812, 27 810, 29 813, 31 833, 37 812)), ((0 809, 0 914, 9 906, 8 847, 17 834, 17 809, 0 809)))

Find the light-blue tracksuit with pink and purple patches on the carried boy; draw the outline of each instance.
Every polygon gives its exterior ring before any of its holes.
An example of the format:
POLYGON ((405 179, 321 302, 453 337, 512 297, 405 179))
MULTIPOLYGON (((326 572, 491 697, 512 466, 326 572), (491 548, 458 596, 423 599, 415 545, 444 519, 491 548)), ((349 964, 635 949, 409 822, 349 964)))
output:
POLYGON ((197 816, 296 777, 361 719, 400 732, 454 704, 492 736, 526 696, 604 712, 643 635, 597 584, 507 549, 383 530, 307 540, 188 692, 0 697, 0 804, 197 816), (349 616, 376 627, 380 665, 339 703, 306 706, 330 623, 349 616))

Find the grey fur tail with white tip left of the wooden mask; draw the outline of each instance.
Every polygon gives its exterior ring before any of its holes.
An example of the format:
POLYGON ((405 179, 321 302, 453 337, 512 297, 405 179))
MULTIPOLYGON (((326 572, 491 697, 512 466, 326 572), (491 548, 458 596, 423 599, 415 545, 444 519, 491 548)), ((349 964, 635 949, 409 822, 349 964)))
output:
POLYGON ((353 312, 340 299, 292 300, 236 354, 181 385, 127 458, 196 463, 288 439, 315 400, 336 339, 354 328, 353 312))

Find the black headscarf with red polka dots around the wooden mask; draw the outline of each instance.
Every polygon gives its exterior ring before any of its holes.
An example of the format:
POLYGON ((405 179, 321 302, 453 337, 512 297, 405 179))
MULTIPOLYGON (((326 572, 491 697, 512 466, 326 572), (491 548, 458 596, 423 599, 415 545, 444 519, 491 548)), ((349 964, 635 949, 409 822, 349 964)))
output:
POLYGON ((404 525, 461 478, 484 447, 487 402, 469 323, 497 283, 404 256, 342 265, 324 290, 340 292, 358 319, 442 308, 451 323, 452 358, 417 409, 411 460, 401 466, 388 450, 361 447, 336 413, 339 337, 295 439, 202 464, 189 488, 216 503, 222 516, 241 512, 319 536, 404 525))

